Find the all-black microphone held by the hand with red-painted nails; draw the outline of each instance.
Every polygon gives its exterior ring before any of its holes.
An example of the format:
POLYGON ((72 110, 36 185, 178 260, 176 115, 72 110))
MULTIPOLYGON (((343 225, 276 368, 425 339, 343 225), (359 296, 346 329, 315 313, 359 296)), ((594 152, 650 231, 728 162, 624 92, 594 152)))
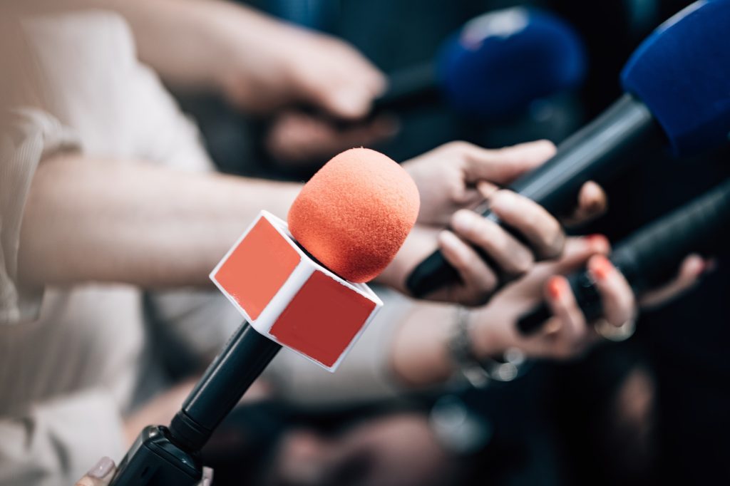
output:
MULTIPOLYGON (((704 250, 703 245, 717 247, 718 240, 726 241, 729 222, 730 180, 726 180, 704 196, 623 239, 610 260, 626 277, 634 293, 640 293, 671 278, 689 252, 704 250)), ((586 320, 601 317, 601 296, 591 274, 584 269, 567 279, 586 320)), ((529 335, 538 331, 551 316, 548 304, 542 303, 520 317, 517 328, 529 335)))

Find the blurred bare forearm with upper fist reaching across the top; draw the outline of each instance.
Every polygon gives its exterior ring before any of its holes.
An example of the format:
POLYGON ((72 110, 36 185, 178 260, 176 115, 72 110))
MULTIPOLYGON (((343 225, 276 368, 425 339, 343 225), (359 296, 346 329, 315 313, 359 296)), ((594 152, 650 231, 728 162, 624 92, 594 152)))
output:
POLYGON ((32 0, 25 8, 110 9, 131 26, 139 58, 180 88, 222 91, 269 112, 305 102, 338 117, 369 111, 385 78, 356 49, 220 0, 32 0))

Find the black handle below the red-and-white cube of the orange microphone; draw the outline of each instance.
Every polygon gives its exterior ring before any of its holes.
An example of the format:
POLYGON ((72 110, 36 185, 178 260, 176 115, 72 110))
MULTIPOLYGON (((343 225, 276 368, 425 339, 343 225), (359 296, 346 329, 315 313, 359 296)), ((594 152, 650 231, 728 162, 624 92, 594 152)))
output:
POLYGON ((243 323, 172 419, 172 440, 185 450, 201 450, 280 349, 281 344, 243 323))

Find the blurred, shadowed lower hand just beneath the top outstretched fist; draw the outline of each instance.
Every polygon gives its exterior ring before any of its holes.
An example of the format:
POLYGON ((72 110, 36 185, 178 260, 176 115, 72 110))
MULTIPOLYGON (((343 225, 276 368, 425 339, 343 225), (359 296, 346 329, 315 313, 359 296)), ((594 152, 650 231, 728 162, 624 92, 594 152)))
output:
POLYGON ((331 118, 289 111, 275 118, 265 143, 269 154, 287 166, 322 165, 343 150, 391 138, 398 128, 397 120, 388 115, 337 124, 331 118))

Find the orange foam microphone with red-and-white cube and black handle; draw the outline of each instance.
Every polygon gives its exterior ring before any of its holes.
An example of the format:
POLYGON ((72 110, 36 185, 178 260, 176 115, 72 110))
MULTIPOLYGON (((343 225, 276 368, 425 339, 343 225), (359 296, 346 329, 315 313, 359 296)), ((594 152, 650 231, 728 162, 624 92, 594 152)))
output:
POLYGON ((282 346, 335 371, 383 306, 364 282, 395 258, 419 205, 398 163, 360 148, 304 185, 288 225, 262 211, 210 274, 246 322, 169 428, 140 433, 112 485, 195 485, 199 451, 282 346))

